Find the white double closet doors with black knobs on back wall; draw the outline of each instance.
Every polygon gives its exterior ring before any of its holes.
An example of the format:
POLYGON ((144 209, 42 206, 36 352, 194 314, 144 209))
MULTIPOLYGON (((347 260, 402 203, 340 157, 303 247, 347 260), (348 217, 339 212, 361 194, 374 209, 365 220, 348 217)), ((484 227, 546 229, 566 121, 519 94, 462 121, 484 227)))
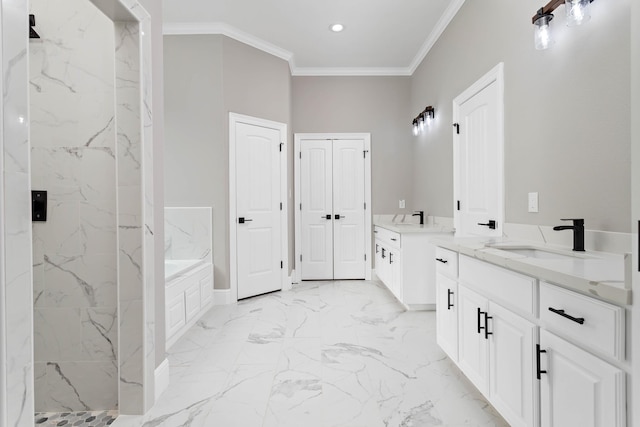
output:
POLYGON ((362 139, 300 141, 302 280, 364 279, 362 139))

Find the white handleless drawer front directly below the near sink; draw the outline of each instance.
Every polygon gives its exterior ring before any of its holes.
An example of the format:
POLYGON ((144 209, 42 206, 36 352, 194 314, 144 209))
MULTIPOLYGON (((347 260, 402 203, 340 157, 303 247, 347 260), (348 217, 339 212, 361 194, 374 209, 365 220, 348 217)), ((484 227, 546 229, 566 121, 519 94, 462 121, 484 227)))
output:
POLYGON ((460 283, 471 285, 491 299, 531 316, 536 315, 536 282, 533 277, 460 256, 460 283))

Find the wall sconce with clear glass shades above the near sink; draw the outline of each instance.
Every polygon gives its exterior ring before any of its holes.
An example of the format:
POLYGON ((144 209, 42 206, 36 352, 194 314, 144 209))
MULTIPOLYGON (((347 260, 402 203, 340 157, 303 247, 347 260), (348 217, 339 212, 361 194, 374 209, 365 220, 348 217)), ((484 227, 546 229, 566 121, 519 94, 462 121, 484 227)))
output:
POLYGON ((534 42, 537 50, 548 49, 553 44, 550 23, 553 11, 561 4, 565 5, 567 26, 582 25, 591 19, 591 2, 593 0, 551 0, 544 7, 538 9, 531 18, 535 25, 534 42))

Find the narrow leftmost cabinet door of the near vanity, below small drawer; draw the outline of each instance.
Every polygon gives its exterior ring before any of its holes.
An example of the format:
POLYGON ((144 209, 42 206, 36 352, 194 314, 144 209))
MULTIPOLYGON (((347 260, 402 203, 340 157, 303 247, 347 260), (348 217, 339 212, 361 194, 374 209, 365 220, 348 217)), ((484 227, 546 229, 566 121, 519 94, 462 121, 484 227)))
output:
POLYGON ((440 348, 458 361, 458 284, 436 274, 436 339, 440 348))

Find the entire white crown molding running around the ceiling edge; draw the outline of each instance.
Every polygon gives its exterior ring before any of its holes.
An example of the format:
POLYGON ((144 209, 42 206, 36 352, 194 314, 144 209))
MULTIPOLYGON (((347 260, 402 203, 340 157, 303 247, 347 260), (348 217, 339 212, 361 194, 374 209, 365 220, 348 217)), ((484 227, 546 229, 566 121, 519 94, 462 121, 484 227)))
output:
POLYGON ((408 67, 297 67, 292 52, 245 33, 224 22, 173 22, 163 26, 164 35, 220 34, 269 53, 289 63, 292 76, 412 76, 465 0, 453 0, 408 67))

